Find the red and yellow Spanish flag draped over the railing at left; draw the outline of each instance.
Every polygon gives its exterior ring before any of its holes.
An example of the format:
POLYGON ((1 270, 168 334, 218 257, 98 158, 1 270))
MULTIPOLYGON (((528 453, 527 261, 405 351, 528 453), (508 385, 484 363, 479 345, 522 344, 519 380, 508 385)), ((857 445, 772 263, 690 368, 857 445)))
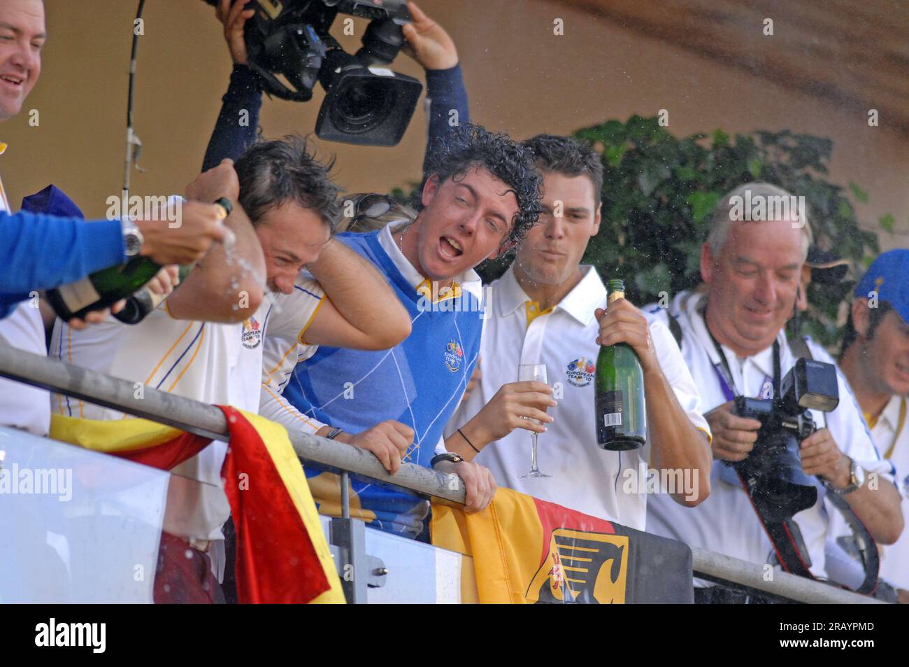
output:
MULTIPOLYGON (((344 593, 285 428, 221 407, 230 429, 221 477, 248 475, 248 487, 225 484, 237 536, 240 602, 339 602, 344 593)), ((89 450, 171 470, 211 440, 145 419, 101 421, 54 415, 50 437, 89 450)))

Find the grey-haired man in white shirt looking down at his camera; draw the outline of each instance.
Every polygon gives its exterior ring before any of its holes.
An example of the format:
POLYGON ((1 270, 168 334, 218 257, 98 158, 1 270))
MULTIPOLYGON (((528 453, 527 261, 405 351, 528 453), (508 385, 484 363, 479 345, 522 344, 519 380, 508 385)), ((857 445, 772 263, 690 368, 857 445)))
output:
MULTIPOLYGON (((759 518, 753 497, 728 465, 748 458, 761 427, 760 421, 735 414, 736 396, 772 398, 798 357, 832 363, 810 340, 806 350, 795 353, 784 332, 811 242, 801 201, 766 183, 734 189, 717 205, 714 227, 701 249, 706 289, 677 295, 669 308, 645 308, 674 330, 714 435, 710 496, 696 508, 683 509, 654 495, 648 503, 647 530, 744 561, 768 563, 768 571, 778 565, 804 576, 810 572, 825 577, 824 540, 828 515, 837 511, 834 494, 848 503, 876 541, 893 543, 903 530, 893 470, 874 450, 842 375, 836 374, 838 406, 827 413, 813 411, 819 428, 800 445, 801 470, 795 472, 808 476, 806 481, 817 490, 813 505, 784 519, 759 518), (789 202, 788 210, 784 202, 789 202)), ((763 455, 760 449, 755 452, 763 455)), ((746 599, 715 587, 695 591, 696 601, 746 599)))

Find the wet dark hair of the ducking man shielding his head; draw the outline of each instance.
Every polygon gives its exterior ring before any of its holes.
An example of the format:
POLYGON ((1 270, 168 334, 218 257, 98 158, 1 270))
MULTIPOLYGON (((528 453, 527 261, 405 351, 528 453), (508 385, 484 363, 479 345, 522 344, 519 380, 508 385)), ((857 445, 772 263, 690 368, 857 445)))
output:
POLYGON ((335 158, 323 164, 315 147, 297 135, 259 141, 236 161, 240 180, 240 206, 255 225, 261 217, 285 202, 316 211, 334 233, 341 218, 341 188, 330 177, 335 158))

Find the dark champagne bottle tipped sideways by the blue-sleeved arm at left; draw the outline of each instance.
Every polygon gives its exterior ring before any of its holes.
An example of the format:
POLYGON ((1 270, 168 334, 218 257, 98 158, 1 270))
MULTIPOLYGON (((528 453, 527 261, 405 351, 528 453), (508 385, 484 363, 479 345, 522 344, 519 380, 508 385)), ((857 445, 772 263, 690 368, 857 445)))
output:
MULTIPOLYGON (((219 213, 221 219, 233 210, 226 197, 218 199, 215 204, 222 209, 219 213)), ((138 324, 164 300, 145 287, 161 268, 151 258, 137 255, 125 264, 104 268, 75 283, 48 289, 45 298, 57 317, 65 322, 71 318, 85 318, 93 310, 110 308, 117 301, 127 298, 125 308, 114 317, 126 324, 138 324)), ((180 268, 181 282, 191 269, 180 268)))

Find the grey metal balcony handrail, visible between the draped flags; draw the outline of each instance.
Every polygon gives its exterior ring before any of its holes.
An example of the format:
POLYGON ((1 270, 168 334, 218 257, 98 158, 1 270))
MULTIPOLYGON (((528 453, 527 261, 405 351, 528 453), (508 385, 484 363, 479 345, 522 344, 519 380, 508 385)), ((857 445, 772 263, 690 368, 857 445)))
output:
MULTIPOLYGON (((94 370, 71 366, 55 359, 10 347, 0 348, 0 376, 35 387, 63 393, 105 408, 173 426, 213 440, 228 441, 224 413, 213 405, 144 388, 143 398, 135 398, 135 384, 94 370)), ((342 475, 342 503, 347 506, 347 475, 367 478, 385 486, 414 493, 425 499, 448 504, 464 504, 464 484, 460 479, 404 463, 393 476, 388 474, 372 453, 352 445, 301 432, 288 431, 297 456, 304 463, 317 463, 342 475)), ((824 604, 882 603, 851 591, 843 591, 817 581, 786 572, 774 571, 766 581, 764 567, 714 551, 691 547, 694 575, 714 581, 728 581, 746 589, 764 591, 789 600, 824 604)))

